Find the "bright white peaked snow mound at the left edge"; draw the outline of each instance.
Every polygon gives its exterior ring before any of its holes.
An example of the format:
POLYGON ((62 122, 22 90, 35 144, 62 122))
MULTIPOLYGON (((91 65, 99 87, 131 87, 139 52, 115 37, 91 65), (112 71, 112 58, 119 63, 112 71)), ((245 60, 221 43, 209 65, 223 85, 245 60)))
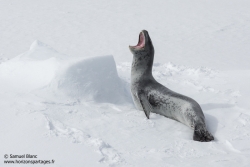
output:
POLYGON ((62 57, 46 44, 35 41, 27 52, 1 63, 0 85, 20 93, 44 87, 55 77, 62 57))

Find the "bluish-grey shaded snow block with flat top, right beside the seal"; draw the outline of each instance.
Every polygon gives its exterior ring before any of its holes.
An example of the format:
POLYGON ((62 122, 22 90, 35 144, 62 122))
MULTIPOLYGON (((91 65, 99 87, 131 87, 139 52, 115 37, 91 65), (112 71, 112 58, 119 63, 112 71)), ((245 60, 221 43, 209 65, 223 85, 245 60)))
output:
POLYGON ((113 56, 85 58, 67 65, 52 85, 77 99, 121 103, 130 98, 113 56))

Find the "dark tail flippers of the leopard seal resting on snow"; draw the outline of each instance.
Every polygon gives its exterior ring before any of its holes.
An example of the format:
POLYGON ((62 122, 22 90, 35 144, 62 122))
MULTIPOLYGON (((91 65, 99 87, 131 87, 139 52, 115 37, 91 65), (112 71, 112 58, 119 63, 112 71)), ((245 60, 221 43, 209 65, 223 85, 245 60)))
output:
POLYGON ((194 136, 193 139, 195 141, 200 141, 200 142, 209 142, 214 140, 213 135, 209 133, 206 128, 203 128, 199 125, 195 126, 194 128, 194 136))

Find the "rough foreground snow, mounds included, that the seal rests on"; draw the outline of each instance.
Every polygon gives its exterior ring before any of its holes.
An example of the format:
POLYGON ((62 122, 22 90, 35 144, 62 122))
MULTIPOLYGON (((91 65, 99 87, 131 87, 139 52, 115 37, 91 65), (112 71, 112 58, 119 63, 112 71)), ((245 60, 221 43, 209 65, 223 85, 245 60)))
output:
POLYGON ((238 103, 243 95, 228 81, 235 76, 249 81, 249 71, 239 71, 241 76, 154 64, 159 82, 201 104, 215 141, 200 143, 185 125, 154 113, 148 120, 135 109, 130 69, 130 62, 116 66, 112 56, 69 60, 39 41, 2 62, 2 155, 38 154, 55 159, 55 166, 249 165, 249 104, 238 103), (68 146, 71 142, 80 149, 68 146))

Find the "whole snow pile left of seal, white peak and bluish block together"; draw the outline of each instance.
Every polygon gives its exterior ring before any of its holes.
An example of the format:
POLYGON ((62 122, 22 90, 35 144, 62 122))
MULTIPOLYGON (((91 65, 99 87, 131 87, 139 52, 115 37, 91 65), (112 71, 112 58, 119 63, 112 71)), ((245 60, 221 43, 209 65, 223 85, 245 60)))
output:
POLYGON ((0 66, 2 86, 29 92, 41 88, 87 101, 130 101, 126 83, 117 74, 113 56, 69 59, 34 41, 30 49, 0 66))

